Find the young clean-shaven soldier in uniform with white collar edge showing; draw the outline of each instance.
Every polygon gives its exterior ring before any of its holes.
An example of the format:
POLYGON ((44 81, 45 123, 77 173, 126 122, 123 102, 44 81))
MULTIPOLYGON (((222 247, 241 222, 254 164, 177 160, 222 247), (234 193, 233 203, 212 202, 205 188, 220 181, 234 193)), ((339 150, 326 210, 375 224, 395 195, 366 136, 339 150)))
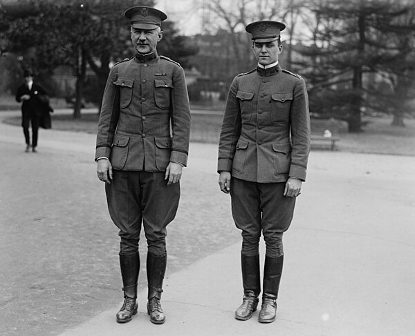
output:
POLYGON ((257 310, 261 292, 259 238, 266 256, 259 322, 273 322, 284 252, 282 235, 293 219, 295 197, 306 179, 310 120, 304 80, 282 69, 284 23, 258 21, 252 34, 255 70, 234 78, 219 144, 219 185, 230 192, 232 215, 242 233, 243 303, 235 318, 257 310))

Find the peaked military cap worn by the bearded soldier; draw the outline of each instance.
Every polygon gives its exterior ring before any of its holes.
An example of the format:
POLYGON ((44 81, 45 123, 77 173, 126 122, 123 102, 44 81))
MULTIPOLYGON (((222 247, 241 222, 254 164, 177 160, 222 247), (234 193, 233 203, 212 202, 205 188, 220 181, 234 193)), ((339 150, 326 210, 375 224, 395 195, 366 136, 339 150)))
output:
POLYGON ((135 6, 127 9, 124 15, 129 19, 131 27, 152 30, 161 26, 161 21, 167 19, 167 15, 161 10, 146 6, 135 6))

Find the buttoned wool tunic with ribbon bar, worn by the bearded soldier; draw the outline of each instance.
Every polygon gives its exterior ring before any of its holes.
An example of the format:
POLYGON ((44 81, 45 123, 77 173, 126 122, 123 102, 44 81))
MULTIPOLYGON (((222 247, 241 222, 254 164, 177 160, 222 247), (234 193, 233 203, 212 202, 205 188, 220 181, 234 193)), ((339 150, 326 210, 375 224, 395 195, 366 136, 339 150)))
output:
POLYGON ((189 135, 189 98, 178 63, 155 53, 111 68, 95 159, 107 157, 117 170, 165 171, 170 161, 186 166, 189 135))

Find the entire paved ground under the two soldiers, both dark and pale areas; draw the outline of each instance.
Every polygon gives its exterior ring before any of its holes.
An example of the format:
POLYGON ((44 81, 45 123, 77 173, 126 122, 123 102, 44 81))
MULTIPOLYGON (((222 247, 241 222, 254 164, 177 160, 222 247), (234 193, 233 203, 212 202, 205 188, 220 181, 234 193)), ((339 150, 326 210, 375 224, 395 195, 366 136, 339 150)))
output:
POLYGON ((141 281, 138 315, 117 324, 118 239, 94 137, 41 130, 36 155, 21 133, 0 123, 1 335, 414 335, 414 157, 311 153, 284 239, 277 321, 263 325, 233 318, 239 232, 217 186, 216 146, 192 144, 169 228, 167 322, 149 322, 141 281))

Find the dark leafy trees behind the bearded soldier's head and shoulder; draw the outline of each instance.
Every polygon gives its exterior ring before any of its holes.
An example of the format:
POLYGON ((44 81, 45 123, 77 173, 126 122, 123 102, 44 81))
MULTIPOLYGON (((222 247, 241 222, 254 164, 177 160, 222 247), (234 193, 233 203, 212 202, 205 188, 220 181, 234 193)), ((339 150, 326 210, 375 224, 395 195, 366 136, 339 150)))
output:
MULTIPOLYGON (((154 6, 154 1, 33 1, 30 14, 24 17, 0 14, 0 30, 8 37, 9 49, 34 47, 33 57, 26 66, 37 73, 52 72, 59 65, 71 66, 77 79, 74 117, 80 117, 87 69, 96 75, 96 80, 89 83, 93 88, 87 89, 95 92, 95 101, 100 106, 111 64, 134 55, 124 10, 138 5, 154 6)), ((163 54, 186 63, 187 56, 196 50, 186 47, 185 39, 178 35, 173 23, 167 21, 163 30, 166 31, 160 43, 163 54)))

